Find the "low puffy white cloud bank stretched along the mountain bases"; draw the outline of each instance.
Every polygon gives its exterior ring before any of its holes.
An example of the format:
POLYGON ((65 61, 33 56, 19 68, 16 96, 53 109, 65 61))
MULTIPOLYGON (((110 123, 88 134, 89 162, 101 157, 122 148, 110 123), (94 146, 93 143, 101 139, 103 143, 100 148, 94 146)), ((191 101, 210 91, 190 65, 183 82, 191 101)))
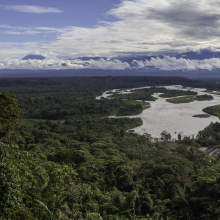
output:
POLYGON ((220 68, 220 59, 189 60, 164 56, 164 58, 151 58, 150 60, 133 60, 123 62, 120 59, 58 59, 53 56, 44 60, 13 59, 0 63, 0 69, 31 69, 31 70, 59 70, 59 69, 104 69, 104 70, 214 70, 220 68))

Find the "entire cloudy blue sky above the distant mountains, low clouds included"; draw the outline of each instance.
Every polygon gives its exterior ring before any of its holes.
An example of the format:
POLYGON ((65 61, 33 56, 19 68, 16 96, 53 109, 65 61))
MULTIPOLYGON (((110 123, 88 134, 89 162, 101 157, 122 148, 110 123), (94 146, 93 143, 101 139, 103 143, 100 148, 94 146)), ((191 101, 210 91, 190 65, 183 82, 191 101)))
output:
MULTIPOLYGON (((220 0, 0 1, 0 68, 24 68, 27 62, 20 59, 27 54, 48 58, 29 62, 33 68, 57 68, 55 62, 60 66, 66 59, 85 56, 218 50, 219 37, 220 0)), ((169 57, 165 61, 171 62, 169 57)), ((165 61, 158 58, 140 65, 153 62, 158 66, 165 61)), ((119 69, 128 68, 127 63, 113 62, 119 69)), ((210 63, 220 65, 218 60, 210 63)), ((90 66, 109 68, 113 64, 100 60, 90 66)), ((78 60, 68 65, 78 68, 84 64, 78 60)))

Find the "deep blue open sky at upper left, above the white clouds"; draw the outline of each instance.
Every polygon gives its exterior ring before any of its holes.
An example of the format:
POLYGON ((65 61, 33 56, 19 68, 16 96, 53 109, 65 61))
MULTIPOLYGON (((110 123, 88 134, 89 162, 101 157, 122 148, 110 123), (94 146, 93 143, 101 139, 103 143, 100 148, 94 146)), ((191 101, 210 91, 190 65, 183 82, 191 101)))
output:
POLYGON ((105 20, 105 13, 119 2, 119 0, 2 0, 0 19, 1 24, 15 27, 92 27, 99 21, 105 20), (25 5, 42 7, 42 10, 48 12, 40 13, 39 9, 38 13, 34 10, 32 12, 29 10, 28 13, 27 9, 25 13, 25 5))

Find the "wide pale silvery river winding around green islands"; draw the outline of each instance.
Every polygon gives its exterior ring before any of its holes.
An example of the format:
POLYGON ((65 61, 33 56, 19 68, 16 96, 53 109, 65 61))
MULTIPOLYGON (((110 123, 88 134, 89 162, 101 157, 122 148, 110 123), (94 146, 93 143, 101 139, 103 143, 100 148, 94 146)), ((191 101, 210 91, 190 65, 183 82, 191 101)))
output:
MULTIPOLYGON (((145 87, 146 88, 146 87, 145 87)), ((198 93, 198 95, 209 94, 205 92, 206 89, 198 88, 183 88, 179 85, 164 86, 166 89, 177 90, 191 90, 198 93)), ((112 90, 111 92, 115 92, 112 90)), ((105 92, 101 97, 107 98, 111 94, 105 92)), ((211 122, 218 122, 216 116, 208 118, 193 117, 194 115, 204 114, 202 109, 220 104, 220 95, 211 94, 214 99, 211 101, 193 101, 190 103, 173 104, 166 101, 165 98, 159 97, 159 94, 154 94, 156 101, 148 101, 151 105, 150 108, 144 110, 141 114, 135 116, 125 116, 129 118, 139 117, 143 120, 143 124, 139 127, 133 128, 136 133, 151 134, 153 138, 160 138, 161 132, 164 130, 171 134, 173 139, 177 139, 180 133, 182 137, 189 136, 195 137, 200 130, 203 130, 211 122)), ((117 118, 117 116, 111 116, 117 118)))

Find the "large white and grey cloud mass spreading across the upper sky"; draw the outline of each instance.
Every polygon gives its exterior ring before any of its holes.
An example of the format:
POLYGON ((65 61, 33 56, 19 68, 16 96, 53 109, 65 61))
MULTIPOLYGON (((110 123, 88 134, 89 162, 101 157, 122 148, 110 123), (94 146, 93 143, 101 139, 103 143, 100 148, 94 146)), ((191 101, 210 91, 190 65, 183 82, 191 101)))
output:
MULTIPOLYGON (((107 16, 114 17, 113 21, 102 21, 91 28, 18 27, 6 30, 10 27, 5 27, 3 31, 31 36, 52 33, 54 40, 40 42, 39 48, 71 58, 219 48, 219 6, 220 0, 122 0, 107 12, 107 16)), ((29 11, 53 11, 44 9, 37 7, 29 11)))

